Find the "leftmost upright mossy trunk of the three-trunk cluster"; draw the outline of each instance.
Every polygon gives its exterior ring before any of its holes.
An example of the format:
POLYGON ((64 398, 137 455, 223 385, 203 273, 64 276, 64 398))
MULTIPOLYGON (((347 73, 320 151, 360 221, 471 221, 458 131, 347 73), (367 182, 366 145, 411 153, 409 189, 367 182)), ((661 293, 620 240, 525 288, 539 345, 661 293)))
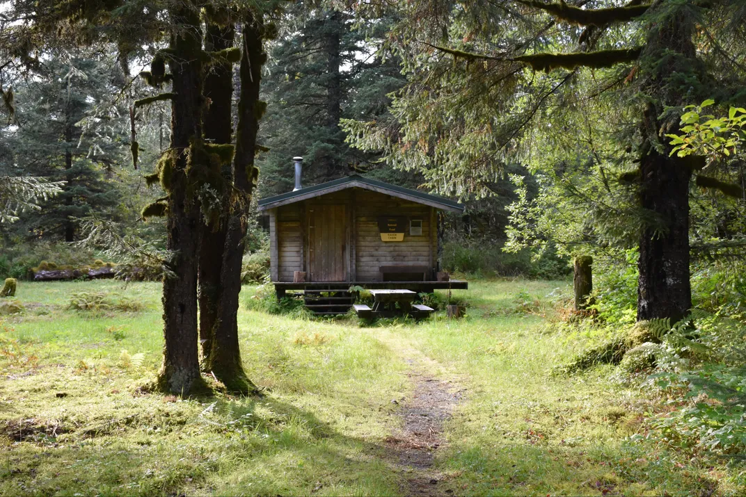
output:
MULTIPOLYGON (((197 347, 197 247, 199 205, 189 194, 186 175, 189 147, 201 140, 202 63, 198 7, 184 0, 172 10, 173 75, 171 148, 174 170, 169 191, 168 238, 172 253, 169 273, 163 279, 163 367, 158 384, 162 390, 186 395, 201 382, 197 347)), ((199 167, 192 164, 192 167, 199 167)))

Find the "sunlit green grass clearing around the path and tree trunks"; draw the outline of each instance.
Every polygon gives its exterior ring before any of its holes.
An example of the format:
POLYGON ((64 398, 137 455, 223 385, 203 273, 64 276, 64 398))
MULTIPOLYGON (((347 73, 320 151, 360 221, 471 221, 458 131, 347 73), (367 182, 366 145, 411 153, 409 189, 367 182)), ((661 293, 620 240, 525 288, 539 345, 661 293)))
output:
POLYGON ((455 495, 744 492, 739 464, 630 439, 660 399, 612 367, 551 374, 584 341, 548 326, 568 283, 470 286, 454 291, 463 320, 242 308, 245 368, 266 395, 181 399, 139 388, 160 365, 160 285, 21 282, 25 311, 0 326, 0 494, 399 495, 406 473, 383 440, 401 424, 392 400, 413 388, 405 349, 465 389, 436 455, 455 495), (69 308, 102 292, 142 308, 69 308))

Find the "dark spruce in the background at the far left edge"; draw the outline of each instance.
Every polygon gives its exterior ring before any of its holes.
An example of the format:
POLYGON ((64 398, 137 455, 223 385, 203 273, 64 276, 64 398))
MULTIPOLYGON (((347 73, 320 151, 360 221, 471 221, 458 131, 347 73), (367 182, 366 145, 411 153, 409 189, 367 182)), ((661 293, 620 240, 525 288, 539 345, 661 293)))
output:
POLYGON ((87 119, 107 101, 117 69, 93 51, 76 52, 52 54, 43 73, 16 80, 16 128, 0 138, 12 153, 0 167, 7 175, 65 182, 43 211, 22 215, 13 226, 22 238, 75 241, 75 218, 111 217, 119 203, 116 184, 108 180, 124 158, 121 119, 116 107, 87 119))

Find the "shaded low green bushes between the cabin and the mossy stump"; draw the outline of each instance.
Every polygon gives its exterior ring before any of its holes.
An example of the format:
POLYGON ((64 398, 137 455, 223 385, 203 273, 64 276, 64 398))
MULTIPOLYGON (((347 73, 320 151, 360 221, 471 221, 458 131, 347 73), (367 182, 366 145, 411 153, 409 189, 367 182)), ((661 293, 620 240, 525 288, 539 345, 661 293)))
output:
POLYGON ((503 244, 492 240, 472 240, 451 235, 443 243, 442 267, 450 272, 475 276, 525 276, 560 279, 571 272, 568 260, 554 249, 534 259, 529 250, 507 253, 503 244))

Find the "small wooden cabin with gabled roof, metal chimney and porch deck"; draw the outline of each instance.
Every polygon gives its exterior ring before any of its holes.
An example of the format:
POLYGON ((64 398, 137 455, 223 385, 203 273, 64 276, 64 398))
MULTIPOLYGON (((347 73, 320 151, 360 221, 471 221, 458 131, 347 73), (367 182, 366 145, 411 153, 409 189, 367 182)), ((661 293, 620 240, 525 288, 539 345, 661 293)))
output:
MULTIPOLYGON (((296 165, 296 171, 298 171, 296 165)), ((353 175, 259 201, 269 213, 271 276, 286 290, 467 288, 438 281, 438 213, 445 197, 353 175)))

